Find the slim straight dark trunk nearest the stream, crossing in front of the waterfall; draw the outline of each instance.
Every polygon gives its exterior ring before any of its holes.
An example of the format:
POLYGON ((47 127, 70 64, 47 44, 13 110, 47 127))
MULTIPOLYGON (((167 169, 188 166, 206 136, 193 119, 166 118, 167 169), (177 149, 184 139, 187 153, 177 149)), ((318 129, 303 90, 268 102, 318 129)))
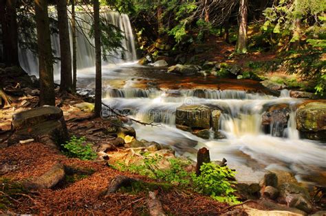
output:
POLYGON ((98 0, 94 3, 94 40, 95 40, 95 116, 99 117, 102 110, 102 63, 101 63, 101 47, 100 47, 100 4, 98 0))

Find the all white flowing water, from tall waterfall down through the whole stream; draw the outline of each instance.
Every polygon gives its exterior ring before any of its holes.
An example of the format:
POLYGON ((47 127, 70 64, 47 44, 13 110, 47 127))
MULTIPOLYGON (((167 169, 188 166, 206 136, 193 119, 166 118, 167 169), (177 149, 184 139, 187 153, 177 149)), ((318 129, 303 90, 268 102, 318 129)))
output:
MULTIPOLYGON (((326 176, 325 143, 300 139, 296 130, 296 105, 302 102, 300 99, 290 98, 288 91, 283 91, 279 97, 269 95, 259 83, 250 80, 178 77, 164 73, 165 69, 136 66, 128 16, 116 12, 102 15, 125 32, 122 44, 127 50, 102 66, 103 102, 140 121, 160 123, 154 127, 133 124, 138 139, 170 145, 177 154, 193 159, 196 149, 208 147, 212 160, 227 158, 231 167, 249 169, 248 173, 241 173, 246 176, 245 180, 257 180, 259 175, 254 170, 261 169, 291 171, 298 180, 320 176, 320 173, 326 176), (175 111, 183 104, 204 104, 222 110, 219 130, 224 139, 213 136, 201 139, 175 128, 175 111), (263 113, 266 108, 279 104, 290 109, 289 120, 285 125, 272 120, 266 130, 262 126, 263 113)), ((89 21, 86 14, 78 16, 89 21)), ((89 28, 87 23, 80 25, 89 28)), ((78 86, 80 93, 91 95, 94 93, 95 57, 88 41, 91 41, 88 36, 78 32, 78 86)), ((52 47, 59 53, 56 34, 52 35, 52 47)), ((19 57, 26 71, 37 73, 37 59, 30 51, 20 50, 19 57)), ((59 63, 54 65, 57 76, 59 67, 59 63)), ((316 182, 311 178, 308 181, 316 182)))

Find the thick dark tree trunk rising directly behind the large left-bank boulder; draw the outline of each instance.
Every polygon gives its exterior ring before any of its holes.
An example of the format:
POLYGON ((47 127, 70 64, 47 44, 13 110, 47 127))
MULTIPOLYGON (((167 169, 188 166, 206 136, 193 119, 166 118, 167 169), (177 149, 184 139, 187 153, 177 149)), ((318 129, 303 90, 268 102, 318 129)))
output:
POLYGON ((47 0, 34 0, 39 51, 40 105, 55 105, 53 60, 47 0))

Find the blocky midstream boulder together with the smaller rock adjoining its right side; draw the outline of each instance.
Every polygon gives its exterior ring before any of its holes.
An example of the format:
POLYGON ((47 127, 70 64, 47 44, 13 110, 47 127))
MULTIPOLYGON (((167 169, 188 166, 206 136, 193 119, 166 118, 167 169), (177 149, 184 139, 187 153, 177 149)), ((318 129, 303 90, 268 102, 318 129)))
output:
POLYGON ((188 131, 204 139, 210 138, 210 128, 216 139, 219 133, 219 117, 221 110, 204 105, 183 105, 177 108, 175 125, 180 130, 188 131))

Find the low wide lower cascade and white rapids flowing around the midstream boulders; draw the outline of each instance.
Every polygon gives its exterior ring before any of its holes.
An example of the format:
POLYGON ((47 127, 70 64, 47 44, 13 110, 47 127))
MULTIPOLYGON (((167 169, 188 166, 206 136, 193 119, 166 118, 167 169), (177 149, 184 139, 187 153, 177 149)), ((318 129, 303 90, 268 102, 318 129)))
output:
MULTIPOLYGON (((219 91, 190 89, 159 91, 157 89, 115 88, 108 89, 105 104, 144 122, 159 122, 162 127, 144 127, 134 124, 138 138, 157 141, 177 148, 197 147, 210 149, 212 160, 225 157, 232 163, 246 164, 247 155, 266 167, 283 167, 298 176, 307 174, 311 167, 326 167, 325 145, 299 139, 296 130, 296 104, 300 99, 280 97, 245 91, 219 91), (204 104, 222 110, 220 132, 226 139, 201 139, 190 132, 175 128, 175 110, 182 104, 204 104), (265 106, 287 104, 290 108, 287 127, 272 122, 269 132, 262 126, 265 106), (195 145, 196 145, 195 144, 195 145)), ((188 150, 186 150, 188 151, 188 150)), ((188 155, 193 156, 193 155, 188 155)))

